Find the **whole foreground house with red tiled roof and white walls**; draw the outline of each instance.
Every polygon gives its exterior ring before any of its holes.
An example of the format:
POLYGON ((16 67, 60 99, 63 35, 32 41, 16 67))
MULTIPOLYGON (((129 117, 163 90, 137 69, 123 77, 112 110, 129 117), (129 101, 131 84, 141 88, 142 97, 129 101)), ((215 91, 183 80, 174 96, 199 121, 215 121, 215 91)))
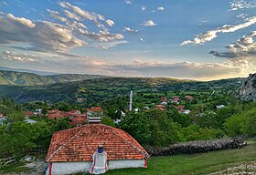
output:
POLYGON ((46 157, 46 175, 146 168, 148 157, 145 149, 122 129, 87 124, 53 134, 46 157))

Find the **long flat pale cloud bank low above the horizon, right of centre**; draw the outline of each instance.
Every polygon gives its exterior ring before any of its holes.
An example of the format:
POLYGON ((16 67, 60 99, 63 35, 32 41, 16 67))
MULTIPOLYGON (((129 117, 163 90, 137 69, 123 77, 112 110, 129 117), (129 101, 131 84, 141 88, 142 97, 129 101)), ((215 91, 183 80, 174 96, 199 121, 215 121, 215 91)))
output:
POLYGON ((175 64, 144 62, 135 60, 131 65, 112 66, 112 72, 119 76, 133 77, 176 77, 198 80, 219 79, 240 76, 240 67, 216 63, 181 62, 175 64))

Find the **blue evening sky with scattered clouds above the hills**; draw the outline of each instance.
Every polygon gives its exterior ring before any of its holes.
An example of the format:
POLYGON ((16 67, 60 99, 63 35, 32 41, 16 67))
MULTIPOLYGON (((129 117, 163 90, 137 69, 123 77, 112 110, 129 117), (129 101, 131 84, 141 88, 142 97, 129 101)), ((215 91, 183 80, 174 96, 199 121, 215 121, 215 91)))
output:
POLYGON ((0 66, 212 80, 256 72, 256 0, 0 0, 0 66))

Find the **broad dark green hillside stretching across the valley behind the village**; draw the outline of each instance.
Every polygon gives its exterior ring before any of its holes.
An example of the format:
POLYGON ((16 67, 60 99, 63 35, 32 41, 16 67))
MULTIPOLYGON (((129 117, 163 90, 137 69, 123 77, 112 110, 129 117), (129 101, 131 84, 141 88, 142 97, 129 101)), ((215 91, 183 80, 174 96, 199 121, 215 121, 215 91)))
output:
POLYGON ((16 102, 48 100, 50 102, 66 101, 69 103, 98 103, 118 96, 134 93, 165 93, 179 91, 199 91, 208 89, 235 90, 240 87, 242 78, 222 79, 199 82, 173 78, 153 77, 104 77, 83 81, 61 82, 41 86, 0 86, 3 95, 16 98, 16 102))

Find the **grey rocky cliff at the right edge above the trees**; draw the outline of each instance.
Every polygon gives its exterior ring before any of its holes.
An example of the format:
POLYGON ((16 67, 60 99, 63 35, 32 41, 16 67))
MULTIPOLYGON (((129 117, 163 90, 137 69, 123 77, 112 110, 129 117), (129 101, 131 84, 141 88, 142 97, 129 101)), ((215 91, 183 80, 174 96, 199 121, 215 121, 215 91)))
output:
POLYGON ((250 74, 236 93, 236 98, 256 102, 256 73, 250 74))

